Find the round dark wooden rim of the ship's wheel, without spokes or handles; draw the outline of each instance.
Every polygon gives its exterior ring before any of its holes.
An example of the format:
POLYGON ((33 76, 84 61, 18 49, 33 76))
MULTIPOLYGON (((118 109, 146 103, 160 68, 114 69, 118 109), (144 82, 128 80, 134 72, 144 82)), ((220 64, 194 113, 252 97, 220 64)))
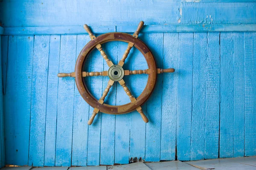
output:
POLYGON ((149 48, 145 45, 145 43, 133 37, 131 34, 117 32, 102 34, 99 37, 96 37, 95 39, 88 42, 79 54, 79 57, 76 61, 75 72, 76 86, 83 99, 91 107, 98 108, 100 112, 108 114, 129 113, 131 111, 136 110, 138 106, 143 105, 143 103, 147 101, 148 97, 152 93, 157 78, 157 68, 154 56, 152 55, 149 48), (108 105, 105 103, 100 104, 98 100, 90 93, 90 91, 84 83, 82 71, 84 70, 84 62, 86 61, 88 54, 90 54, 90 52, 93 51, 94 48, 96 48, 97 44, 103 44, 105 42, 110 41, 132 42, 146 59, 148 69, 150 69, 150 74, 148 74, 148 81, 145 89, 143 90, 142 94, 140 94, 140 96, 137 97, 135 102, 130 102, 125 105, 108 105))

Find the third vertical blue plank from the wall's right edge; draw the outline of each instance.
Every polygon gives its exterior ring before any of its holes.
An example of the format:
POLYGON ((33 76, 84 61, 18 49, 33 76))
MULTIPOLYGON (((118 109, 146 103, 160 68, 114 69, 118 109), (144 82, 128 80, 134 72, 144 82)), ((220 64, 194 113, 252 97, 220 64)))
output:
POLYGON ((234 149, 234 40, 233 33, 221 33, 220 158, 233 157, 234 149))

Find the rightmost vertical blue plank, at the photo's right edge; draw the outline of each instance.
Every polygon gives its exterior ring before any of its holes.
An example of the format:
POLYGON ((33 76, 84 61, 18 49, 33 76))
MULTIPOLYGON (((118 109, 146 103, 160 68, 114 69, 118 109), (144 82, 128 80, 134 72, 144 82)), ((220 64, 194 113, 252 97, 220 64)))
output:
POLYGON ((244 156, 256 155, 256 33, 244 35, 245 139, 244 156))

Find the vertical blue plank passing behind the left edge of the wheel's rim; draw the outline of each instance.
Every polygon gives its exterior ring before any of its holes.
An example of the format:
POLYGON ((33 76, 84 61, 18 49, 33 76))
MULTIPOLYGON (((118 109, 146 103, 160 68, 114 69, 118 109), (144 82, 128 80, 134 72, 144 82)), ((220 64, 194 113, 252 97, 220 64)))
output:
MULTIPOLYGON (((89 41, 90 37, 88 35, 77 35, 76 57, 78 57, 84 45, 89 41)), ((80 95, 79 91, 75 86, 72 142, 73 166, 87 165, 88 116, 89 105, 84 101, 84 99, 82 98, 82 96, 80 95)))

